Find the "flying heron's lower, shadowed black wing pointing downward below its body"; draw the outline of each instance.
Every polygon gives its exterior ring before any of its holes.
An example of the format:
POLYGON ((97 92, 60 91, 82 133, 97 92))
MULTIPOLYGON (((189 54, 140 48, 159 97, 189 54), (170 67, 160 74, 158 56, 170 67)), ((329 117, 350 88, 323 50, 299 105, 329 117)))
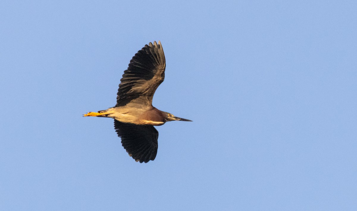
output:
POLYGON ((135 161, 147 163, 155 159, 159 132, 154 126, 122 123, 114 120, 114 127, 118 136, 121 137, 122 146, 135 161))

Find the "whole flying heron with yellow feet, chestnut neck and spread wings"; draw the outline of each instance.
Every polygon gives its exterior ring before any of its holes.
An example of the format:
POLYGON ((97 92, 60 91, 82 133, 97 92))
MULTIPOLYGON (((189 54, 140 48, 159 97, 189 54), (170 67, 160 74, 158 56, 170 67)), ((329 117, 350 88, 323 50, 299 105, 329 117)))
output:
POLYGON ((152 106, 152 97, 164 81, 165 55, 161 42, 151 42, 130 60, 129 67, 120 80, 116 105, 98 112, 88 112, 84 117, 109 117, 129 156, 136 162, 153 161, 157 153, 159 132, 154 126, 170 121, 189 121, 160 111, 152 106))

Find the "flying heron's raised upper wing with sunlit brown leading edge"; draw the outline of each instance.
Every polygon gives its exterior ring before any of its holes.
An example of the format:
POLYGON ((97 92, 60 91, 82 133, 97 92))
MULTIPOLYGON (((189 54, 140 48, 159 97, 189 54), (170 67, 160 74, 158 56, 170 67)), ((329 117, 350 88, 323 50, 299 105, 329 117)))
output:
POLYGON ((164 81, 165 55, 162 45, 154 41, 139 50, 130 60, 120 80, 115 107, 129 102, 152 105, 155 90, 164 81))

